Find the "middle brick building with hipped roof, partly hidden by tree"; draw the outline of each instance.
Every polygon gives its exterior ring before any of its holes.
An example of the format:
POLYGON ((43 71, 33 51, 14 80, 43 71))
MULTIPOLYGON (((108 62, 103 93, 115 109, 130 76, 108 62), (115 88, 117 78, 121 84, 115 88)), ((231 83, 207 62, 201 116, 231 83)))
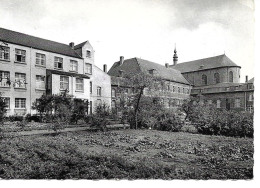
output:
POLYGON ((124 57, 121 56, 120 60, 115 62, 108 71, 112 84, 112 107, 118 105, 122 97, 133 94, 132 88, 123 82, 124 75, 129 73, 145 73, 163 79, 164 88, 145 89, 144 95, 160 97, 167 108, 175 108, 190 96, 192 85, 183 77, 180 71, 171 69, 168 64, 163 66, 140 58, 124 60, 124 57))

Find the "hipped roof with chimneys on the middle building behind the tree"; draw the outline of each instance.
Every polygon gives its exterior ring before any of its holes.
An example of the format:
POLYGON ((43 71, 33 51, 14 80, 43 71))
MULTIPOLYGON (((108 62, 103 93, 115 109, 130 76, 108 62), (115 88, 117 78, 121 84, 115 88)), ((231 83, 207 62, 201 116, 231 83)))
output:
POLYGON ((180 71, 166 68, 163 65, 136 57, 124 60, 122 65, 119 65, 119 62, 115 62, 108 71, 108 74, 110 76, 118 77, 120 76, 119 71, 124 71, 126 73, 149 73, 149 70, 155 70, 156 74, 162 79, 190 85, 190 83, 183 77, 180 71))

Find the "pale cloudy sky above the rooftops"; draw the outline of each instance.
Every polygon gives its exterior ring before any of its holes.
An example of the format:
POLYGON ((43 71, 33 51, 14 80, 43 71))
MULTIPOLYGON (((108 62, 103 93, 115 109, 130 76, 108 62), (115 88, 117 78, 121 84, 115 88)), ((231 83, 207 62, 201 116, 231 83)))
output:
POLYGON ((119 56, 172 64, 225 54, 254 76, 253 0, 0 0, 0 27, 68 44, 98 67, 119 56))

